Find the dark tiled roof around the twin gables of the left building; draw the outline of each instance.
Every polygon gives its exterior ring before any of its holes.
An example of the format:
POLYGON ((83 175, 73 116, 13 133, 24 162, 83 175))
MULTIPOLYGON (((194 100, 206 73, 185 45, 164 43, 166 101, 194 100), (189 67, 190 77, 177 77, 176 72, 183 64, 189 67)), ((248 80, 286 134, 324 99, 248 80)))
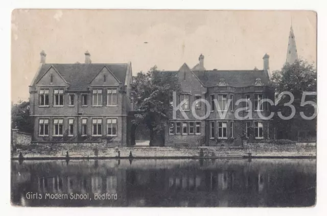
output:
POLYGON ((61 77, 70 84, 68 90, 87 90, 89 82, 103 67, 107 67, 119 82, 125 84, 127 63, 122 64, 44 64, 34 84, 53 66, 61 77))

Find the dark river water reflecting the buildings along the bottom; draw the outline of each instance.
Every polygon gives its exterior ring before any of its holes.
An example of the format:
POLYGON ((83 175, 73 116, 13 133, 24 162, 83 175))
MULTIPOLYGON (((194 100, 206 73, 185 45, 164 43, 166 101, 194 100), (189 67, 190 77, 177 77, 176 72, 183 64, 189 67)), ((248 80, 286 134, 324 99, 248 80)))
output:
POLYGON ((12 203, 22 206, 312 206, 316 196, 307 159, 12 161, 11 176, 12 203), (105 193, 118 198, 94 199, 105 193))

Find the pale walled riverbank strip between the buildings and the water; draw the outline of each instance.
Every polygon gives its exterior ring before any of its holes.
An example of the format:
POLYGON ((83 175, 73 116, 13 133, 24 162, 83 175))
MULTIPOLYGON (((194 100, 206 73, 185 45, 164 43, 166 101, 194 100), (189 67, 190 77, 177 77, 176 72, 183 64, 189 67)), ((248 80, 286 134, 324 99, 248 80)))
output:
POLYGON ((248 148, 237 147, 113 147, 76 145, 17 146, 12 159, 110 159, 110 158, 315 158, 311 145, 272 145, 257 143, 248 148))

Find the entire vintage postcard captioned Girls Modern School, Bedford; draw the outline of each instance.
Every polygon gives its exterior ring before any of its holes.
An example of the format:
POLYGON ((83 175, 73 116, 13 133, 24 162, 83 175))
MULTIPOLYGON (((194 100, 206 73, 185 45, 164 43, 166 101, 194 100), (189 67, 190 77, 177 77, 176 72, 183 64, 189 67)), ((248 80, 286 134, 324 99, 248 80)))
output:
POLYGON ((16 9, 11 25, 12 205, 315 205, 315 12, 16 9))

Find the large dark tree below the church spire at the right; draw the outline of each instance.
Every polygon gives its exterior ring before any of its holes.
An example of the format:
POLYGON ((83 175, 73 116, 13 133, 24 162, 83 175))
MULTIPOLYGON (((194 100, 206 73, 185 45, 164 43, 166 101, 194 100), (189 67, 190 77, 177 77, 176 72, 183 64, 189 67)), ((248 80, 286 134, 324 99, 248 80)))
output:
MULTIPOLYGON (((301 106, 303 92, 317 91, 317 71, 313 64, 306 61, 298 60, 294 64, 285 64, 281 70, 274 71, 271 79, 271 85, 275 89, 276 99, 280 99, 275 105, 275 111, 281 111, 284 116, 291 114, 291 108, 284 106, 284 103, 290 101, 289 95, 282 92, 288 91, 294 95, 295 116, 289 120, 284 120, 275 113, 274 123, 280 132, 277 138, 297 139, 297 132, 301 129, 307 131, 316 130, 316 118, 312 121, 303 119, 299 112, 303 111, 305 115, 312 116, 314 107, 311 105, 301 106)), ((307 95, 305 101, 317 102, 316 95, 307 95)))

